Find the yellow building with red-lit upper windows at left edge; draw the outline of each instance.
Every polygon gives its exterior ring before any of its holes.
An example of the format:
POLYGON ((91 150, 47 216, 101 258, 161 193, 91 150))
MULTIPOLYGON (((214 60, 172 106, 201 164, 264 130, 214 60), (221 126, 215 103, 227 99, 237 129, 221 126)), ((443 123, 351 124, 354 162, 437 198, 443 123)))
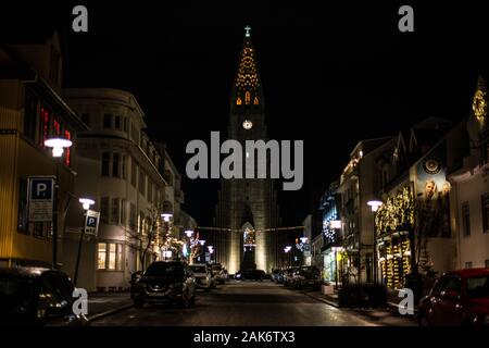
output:
POLYGON ((53 262, 52 223, 28 221, 27 178, 33 175, 59 174, 61 260, 65 207, 73 198, 76 133, 86 125, 60 97, 60 52, 55 33, 38 42, 0 46, 0 266, 53 262), (74 144, 59 160, 43 146, 54 136, 74 144))

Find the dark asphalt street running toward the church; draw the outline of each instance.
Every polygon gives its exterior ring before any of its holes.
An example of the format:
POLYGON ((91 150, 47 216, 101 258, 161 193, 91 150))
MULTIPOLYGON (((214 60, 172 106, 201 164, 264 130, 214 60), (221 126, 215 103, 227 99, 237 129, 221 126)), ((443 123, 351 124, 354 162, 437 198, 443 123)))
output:
POLYGON ((91 325, 400 326, 415 322, 386 311, 338 309, 269 281, 229 281, 210 293, 199 290, 190 309, 146 304, 95 320, 91 325))

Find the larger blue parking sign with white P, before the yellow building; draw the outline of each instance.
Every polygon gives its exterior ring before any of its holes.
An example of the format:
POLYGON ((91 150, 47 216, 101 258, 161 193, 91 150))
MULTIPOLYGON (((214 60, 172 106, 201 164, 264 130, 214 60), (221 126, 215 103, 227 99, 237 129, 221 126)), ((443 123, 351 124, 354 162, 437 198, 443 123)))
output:
POLYGON ((54 177, 30 176, 27 201, 30 222, 51 222, 54 207, 54 177))

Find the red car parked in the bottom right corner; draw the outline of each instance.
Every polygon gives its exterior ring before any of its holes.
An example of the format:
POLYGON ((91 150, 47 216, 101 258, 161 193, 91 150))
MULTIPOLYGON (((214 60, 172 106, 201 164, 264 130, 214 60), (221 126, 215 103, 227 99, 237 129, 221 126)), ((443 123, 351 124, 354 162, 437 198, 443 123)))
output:
POLYGON ((422 326, 489 326, 489 269, 443 274, 419 302, 422 326))

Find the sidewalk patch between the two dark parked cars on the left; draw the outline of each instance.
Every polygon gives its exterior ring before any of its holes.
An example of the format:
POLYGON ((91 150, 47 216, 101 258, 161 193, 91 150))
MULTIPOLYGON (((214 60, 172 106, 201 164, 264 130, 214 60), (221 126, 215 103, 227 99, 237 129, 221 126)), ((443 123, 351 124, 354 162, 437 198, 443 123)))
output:
POLYGON ((129 293, 90 293, 87 316, 89 321, 93 321, 131 307, 129 293))

